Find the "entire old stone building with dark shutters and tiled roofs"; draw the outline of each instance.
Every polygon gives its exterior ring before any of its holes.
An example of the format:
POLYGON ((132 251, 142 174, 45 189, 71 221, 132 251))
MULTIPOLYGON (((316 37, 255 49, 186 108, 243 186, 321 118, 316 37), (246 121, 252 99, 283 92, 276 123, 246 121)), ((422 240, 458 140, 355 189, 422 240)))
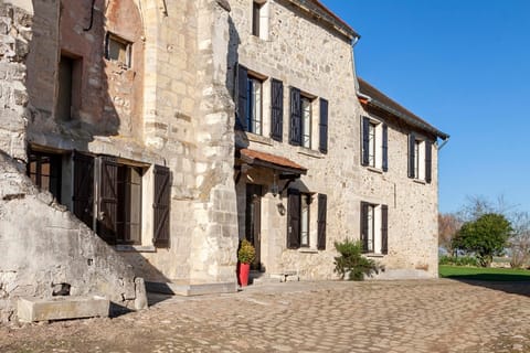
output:
POLYGON ((357 78, 359 35, 319 1, 4 0, 0 18, 2 312, 54 284, 137 308, 141 279, 232 291, 244 237, 264 276, 333 278, 346 237, 385 276, 436 276, 447 136, 357 78))

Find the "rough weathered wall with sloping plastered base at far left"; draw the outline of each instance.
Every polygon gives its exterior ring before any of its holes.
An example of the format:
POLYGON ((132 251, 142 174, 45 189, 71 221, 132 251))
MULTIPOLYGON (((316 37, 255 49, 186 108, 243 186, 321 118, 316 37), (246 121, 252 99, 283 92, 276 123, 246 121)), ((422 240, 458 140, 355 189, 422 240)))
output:
POLYGON ((14 318, 18 297, 51 297, 53 286, 61 284, 71 285, 73 296, 100 295, 121 307, 145 308, 144 281, 130 266, 24 175, 26 54, 35 40, 33 24, 31 3, 0 3, 0 106, 2 124, 9 127, 9 135, 0 139, 4 143, 0 153, 0 246, 4 254, 0 258, 0 321, 14 318))

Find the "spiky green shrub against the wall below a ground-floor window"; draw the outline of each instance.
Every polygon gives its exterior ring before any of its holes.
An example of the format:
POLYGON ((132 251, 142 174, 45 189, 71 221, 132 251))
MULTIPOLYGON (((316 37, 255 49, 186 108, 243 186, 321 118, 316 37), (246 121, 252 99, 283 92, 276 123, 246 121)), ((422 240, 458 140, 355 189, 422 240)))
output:
POLYGON ((335 257, 335 271, 340 279, 348 275, 349 280, 363 280, 364 276, 379 274, 383 268, 370 258, 362 256, 361 242, 346 239, 342 243, 335 243, 335 248, 340 256, 335 257))

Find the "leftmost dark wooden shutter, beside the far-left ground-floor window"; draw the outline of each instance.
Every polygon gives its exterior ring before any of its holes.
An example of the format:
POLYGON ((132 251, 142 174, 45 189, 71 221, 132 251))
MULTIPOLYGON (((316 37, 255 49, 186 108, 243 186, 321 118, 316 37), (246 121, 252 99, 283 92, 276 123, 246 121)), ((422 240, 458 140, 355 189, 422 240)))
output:
POLYGON ((94 158, 74 152, 74 214, 94 228, 94 158))

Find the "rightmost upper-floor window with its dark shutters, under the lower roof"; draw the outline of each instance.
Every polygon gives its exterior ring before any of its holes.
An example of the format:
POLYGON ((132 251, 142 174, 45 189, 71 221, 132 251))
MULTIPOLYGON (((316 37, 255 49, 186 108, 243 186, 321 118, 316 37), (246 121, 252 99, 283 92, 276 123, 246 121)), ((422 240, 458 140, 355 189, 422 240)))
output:
POLYGON ((409 136, 409 178, 431 183, 432 148, 431 141, 409 136))

